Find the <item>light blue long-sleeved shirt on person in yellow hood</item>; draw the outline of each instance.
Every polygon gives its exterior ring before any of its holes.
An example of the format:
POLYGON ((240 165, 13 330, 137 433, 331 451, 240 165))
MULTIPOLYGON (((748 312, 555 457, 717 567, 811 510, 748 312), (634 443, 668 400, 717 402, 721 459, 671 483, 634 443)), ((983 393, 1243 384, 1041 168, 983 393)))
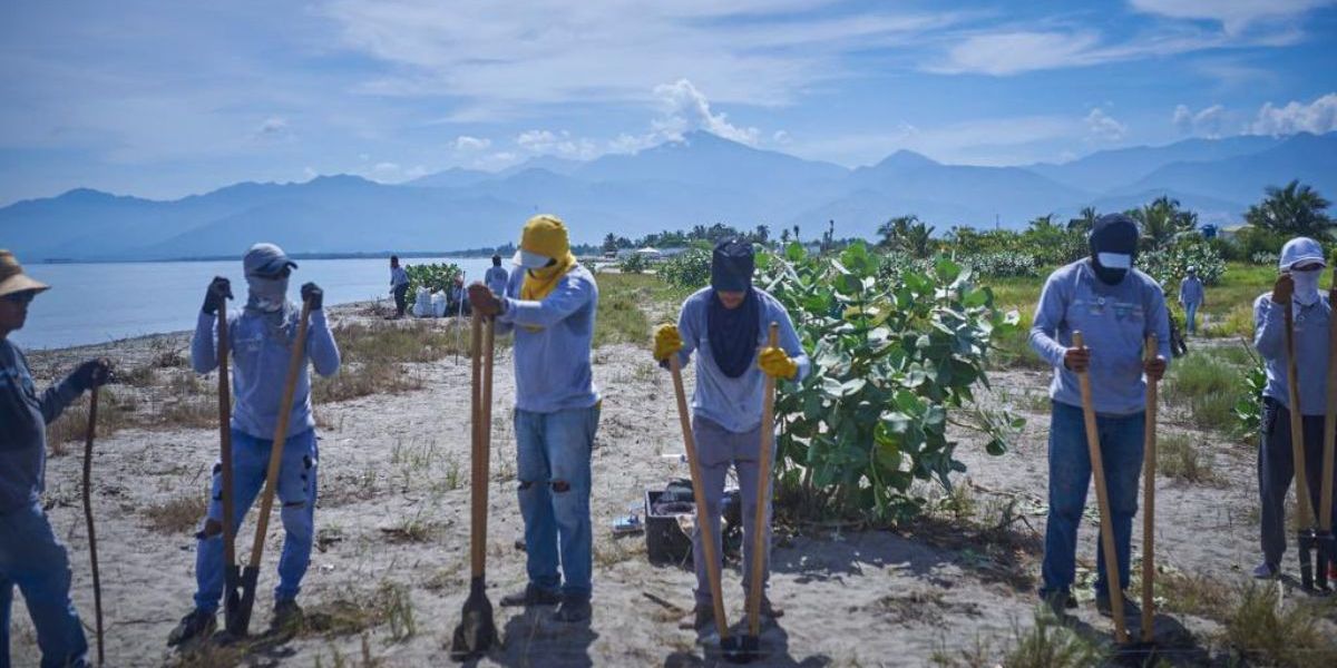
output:
POLYGON ((511 273, 497 331, 515 330, 515 407, 531 413, 599 402, 590 354, 599 286, 576 265, 541 301, 520 299, 524 270, 511 273))

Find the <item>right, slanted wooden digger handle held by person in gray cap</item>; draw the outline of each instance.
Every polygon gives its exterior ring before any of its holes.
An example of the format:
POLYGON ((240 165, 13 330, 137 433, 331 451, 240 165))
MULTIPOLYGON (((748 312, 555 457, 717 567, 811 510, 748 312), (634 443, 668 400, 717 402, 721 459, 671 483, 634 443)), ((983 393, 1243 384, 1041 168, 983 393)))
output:
MULTIPOLYGON (((265 490, 261 493, 259 517, 255 518, 255 541, 251 544, 250 561, 241 576, 241 600, 235 615, 227 619, 227 635, 245 637, 250 628, 251 608, 255 605, 255 584, 259 580, 259 561, 265 554, 265 534, 269 532, 269 514, 274 509, 274 493, 278 490, 278 469, 283 464, 283 444, 287 441, 287 418, 293 414, 293 395, 297 393, 297 378, 306 363, 306 327, 312 319, 312 302, 302 301, 302 317, 297 323, 297 341, 293 342, 293 357, 287 362, 287 381, 283 383, 283 401, 278 405, 278 425, 274 428, 274 442, 269 452, 269 469, 265 473, 265 490)), ((230 441, 229 441, 230 442, 230 441)), ((225 469, 226 470, 226 469, 225 469)), ((223 504, 227 508, 227 504, 223 504)), ((230 526, 223 521, 225 526, 230 526)))

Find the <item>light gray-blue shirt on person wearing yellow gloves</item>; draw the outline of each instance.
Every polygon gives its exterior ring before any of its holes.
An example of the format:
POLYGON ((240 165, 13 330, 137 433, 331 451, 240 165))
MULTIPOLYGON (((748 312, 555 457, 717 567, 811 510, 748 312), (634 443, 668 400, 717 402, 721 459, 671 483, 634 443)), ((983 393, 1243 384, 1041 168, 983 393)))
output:
MULTIPOLYGON (((808 375, 812 363, 794 331, 785 306, 765 290, 757 289, 761 298, 761 323, 757 327, 757 346, 765 347, 770 338, 770 323, 779 323, 779 347, 798 363, 796 381, 808 375)), ((719 370, 710 350, 710 334, 706 330, 706 313, 710 299, 715 298, 711 287, 703 287, 687 298, 678 315, 678 333, 682 335, 679 359, 686 365, 697 353, 697 389, 691 393, 691 411, 710 420, 727 432, 743 434, 761 425, 761 409, 765 399, 765 374, 753 365, 738 378, 730 378, 719 370)))

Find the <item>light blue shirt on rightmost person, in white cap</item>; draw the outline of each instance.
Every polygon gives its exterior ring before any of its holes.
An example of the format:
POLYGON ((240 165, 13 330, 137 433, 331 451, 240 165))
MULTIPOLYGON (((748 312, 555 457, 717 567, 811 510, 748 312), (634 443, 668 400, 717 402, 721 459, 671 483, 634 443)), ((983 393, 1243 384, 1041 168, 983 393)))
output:
MULTIPOLYGON (((1332 321, 1332 305, 1328 303, 1328 295, 1322 291, 1318 294, 1317 302, 1309 306, 1294 303, 1292 307, 1301 415, 1328 413, 1328 326, 1332 321)), ((1271 293, 1254 301, 1254 347, 1267 369, 1267 386, 1262 395, 1290 409, 1290 390, 1286 387, 1286 309, 1271 301, 1271 293)))

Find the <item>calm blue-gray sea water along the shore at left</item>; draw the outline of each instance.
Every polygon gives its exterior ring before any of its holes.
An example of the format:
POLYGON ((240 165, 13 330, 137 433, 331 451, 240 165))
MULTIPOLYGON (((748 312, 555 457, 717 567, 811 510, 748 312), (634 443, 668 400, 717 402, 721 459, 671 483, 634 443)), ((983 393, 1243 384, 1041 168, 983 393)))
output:
MULTIPOLYGON (((453 262, 467 279, 481 279, 488 258, 413 258, 405 265, 453 262)), ((325 303, 338 305, 390 299, 388 259, 303 259, 289 279, 289 297, 314 281, 325 290, 325 303)), ((505 265, 509 267, 509 258, 505 265)), ((215 275, 233 282, 231 307, 246 301, 241 259, 227 262, 127 262, 24 265, 24 271, 48 283, 28 309, 24 327, 9 335, 24 349, 66 347, 86 343, 190 330, 215 275)), ((409 295, 412 302, 413 297, 409 295)))

